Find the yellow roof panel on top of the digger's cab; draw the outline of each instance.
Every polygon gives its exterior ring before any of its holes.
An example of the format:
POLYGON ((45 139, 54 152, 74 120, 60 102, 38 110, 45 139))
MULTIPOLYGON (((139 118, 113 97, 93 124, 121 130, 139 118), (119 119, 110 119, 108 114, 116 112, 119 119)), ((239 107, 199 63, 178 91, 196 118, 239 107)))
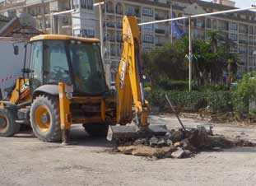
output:
POLYGON ((81 42, 89 42, 89 43, 99 43, 100 40, 95 38, 80 38, 73 37, 70 35, 37 35, 35 37, 30 38, 30 41, 35 40, 80 40, 81 42))

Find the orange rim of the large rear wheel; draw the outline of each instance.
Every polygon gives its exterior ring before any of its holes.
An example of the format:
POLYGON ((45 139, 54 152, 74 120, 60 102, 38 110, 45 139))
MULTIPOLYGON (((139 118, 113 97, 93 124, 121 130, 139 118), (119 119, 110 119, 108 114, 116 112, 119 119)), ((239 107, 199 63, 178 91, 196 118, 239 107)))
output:
POLYGON ((50 115, 46 107, 40 105, 35 109, 35 124, 42 132, 46 132, 50 128, 50 115))

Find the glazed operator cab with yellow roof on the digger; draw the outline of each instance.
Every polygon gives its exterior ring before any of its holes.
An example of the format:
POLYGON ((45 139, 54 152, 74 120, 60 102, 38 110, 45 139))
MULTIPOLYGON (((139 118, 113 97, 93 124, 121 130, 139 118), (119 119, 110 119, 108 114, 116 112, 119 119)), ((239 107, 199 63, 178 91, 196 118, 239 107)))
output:
POLYGON ((26 47, 23 72, 32 91, 65 82, 73 95, 103 95, 108 91, 100 58, 100 41, 67 35, 39 35, 26 47))

